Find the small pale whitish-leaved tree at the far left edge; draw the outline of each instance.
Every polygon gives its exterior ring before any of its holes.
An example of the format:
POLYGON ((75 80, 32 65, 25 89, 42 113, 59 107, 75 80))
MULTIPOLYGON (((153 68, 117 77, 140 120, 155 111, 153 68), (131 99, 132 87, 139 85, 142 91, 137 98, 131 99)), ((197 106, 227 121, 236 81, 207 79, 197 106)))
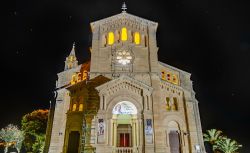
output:
POLYGON ((17 126, 9 124, 1 129, 0 139, 4 141, 5 152, 7 152, 10 146, 16 147, 19 152, 24 140, 24 133, 17 126))

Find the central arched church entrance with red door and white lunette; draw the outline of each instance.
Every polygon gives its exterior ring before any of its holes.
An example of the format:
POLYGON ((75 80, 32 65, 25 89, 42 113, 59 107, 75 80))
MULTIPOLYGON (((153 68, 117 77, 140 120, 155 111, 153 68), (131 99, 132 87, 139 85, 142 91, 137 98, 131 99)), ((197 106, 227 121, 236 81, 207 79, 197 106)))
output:
POLYGON ((112 110, 112 145, 117 152, 133 151, 138 147, 138 111, 129 101, 117 103, 112 110))

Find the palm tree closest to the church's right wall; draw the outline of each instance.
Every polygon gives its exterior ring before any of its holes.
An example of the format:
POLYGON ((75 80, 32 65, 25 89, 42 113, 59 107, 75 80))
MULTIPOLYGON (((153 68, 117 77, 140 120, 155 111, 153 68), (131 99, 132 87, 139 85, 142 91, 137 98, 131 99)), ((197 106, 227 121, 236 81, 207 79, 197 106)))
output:
POLYGON ((216 130, 216 129, 211 129, 207 130, 207 133, 203 134, 204 141, 209 142, 211 145, 214 145, 222 136, 222 131, 216 130))

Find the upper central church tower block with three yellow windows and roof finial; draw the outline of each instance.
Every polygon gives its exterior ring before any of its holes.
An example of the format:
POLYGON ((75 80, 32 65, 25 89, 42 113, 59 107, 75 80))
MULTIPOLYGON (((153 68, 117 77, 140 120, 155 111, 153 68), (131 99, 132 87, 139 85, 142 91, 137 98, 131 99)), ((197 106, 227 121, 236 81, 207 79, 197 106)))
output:
POLYGON ((158 72, 158 23, 131 15, 126 9, 124 3, 120 14, 91 23, 91 78, 102 73, 158 72))

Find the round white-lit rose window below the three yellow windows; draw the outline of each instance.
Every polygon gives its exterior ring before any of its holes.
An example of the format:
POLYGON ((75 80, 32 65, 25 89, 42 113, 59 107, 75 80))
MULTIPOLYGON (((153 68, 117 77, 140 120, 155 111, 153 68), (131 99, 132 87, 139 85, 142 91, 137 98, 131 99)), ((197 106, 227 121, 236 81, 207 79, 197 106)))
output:
POLYGON ((115 58, 116 58, 115 60, 118 64, 124 65, 124 66, 130 64, 132 62, 132 59, 133 59, 131 53, 125 49, 118 50, 116 52, 115 58))

